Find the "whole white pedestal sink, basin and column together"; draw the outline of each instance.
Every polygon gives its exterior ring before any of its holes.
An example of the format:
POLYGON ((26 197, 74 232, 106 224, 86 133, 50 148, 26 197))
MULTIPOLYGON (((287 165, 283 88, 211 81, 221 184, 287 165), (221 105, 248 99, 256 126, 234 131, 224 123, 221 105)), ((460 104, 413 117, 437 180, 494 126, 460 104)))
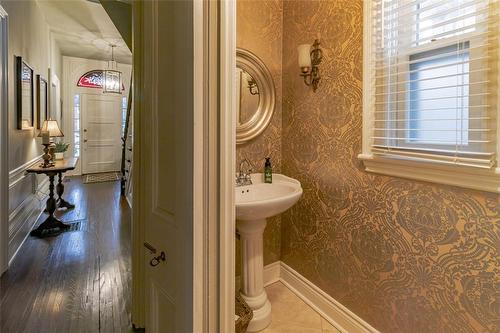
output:
POLYGON ((273 174, 266 184, 263 175, 252 174, 252 185, 235 187, 236 228, 240 234, 242 256, 241 296, 253 310, 248 332, 257 332, 271 323, 271 303, 264 290, 262 235, 266 218, 283 213, 302 195, 300 182, 273 174))

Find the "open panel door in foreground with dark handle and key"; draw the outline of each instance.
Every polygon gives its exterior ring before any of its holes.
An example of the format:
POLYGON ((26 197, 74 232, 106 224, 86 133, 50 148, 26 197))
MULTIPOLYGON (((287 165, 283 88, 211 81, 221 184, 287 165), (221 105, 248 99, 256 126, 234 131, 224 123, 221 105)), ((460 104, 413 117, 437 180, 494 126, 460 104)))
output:
POLYGON ((134 181, 140 191, 134 192, 133 207, 144 226, 145 328, 148 333, 201 333, 194 326, 193 301, 199 297, 193 294, 193 188, 195 168, 201 167, 193 157, 193 2, 141 5, 143 90, 140 110, 134 112, 134 181))

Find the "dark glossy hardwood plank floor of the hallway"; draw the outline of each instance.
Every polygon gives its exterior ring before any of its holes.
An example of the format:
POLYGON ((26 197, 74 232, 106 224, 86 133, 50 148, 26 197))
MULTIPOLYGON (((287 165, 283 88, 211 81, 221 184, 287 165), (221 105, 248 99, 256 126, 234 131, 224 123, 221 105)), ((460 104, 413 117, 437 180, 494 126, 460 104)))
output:
POLYGON ((81 227, 28 237, 1 278, 1 332, 132 331, 131 212, 120 183, 69 179, 64 197, 76 208, 58 217, 81 227))

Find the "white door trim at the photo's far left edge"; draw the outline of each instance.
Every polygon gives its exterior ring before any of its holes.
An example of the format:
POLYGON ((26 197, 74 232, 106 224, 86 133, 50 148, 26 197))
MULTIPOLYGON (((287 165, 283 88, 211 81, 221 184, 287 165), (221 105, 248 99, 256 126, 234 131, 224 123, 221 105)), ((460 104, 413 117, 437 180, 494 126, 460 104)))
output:
POLYGON ((9 246, 8 17, 0 6, 0 275, 7 270, 9 246))

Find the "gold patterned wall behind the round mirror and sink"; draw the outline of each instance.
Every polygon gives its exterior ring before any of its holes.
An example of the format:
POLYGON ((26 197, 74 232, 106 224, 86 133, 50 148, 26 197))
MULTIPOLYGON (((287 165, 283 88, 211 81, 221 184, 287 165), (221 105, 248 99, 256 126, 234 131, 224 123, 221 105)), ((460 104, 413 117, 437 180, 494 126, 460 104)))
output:
MULTIPOLYGON (((264 159, 271 157, 273 171, 279 172, 281 170, 283 2, 281 0, 238 0, 236 11, 236 45, 262 59, 272 75, 276 89, 276 109, 269 126, 254 140, 236 146, 236 167, 238 168, 243 158, 247 158, 253 164, 254 172, 263 172, 264 159)), ((280 258, 280 220, 277 216, 267 223, 264 232, 265 264, 275 262, 280 258)), ((239 246, 237 246, 237 251, 239 252, 239 246)), ((237 269, 237 274, 238 272, 239 269, 237 269)))

